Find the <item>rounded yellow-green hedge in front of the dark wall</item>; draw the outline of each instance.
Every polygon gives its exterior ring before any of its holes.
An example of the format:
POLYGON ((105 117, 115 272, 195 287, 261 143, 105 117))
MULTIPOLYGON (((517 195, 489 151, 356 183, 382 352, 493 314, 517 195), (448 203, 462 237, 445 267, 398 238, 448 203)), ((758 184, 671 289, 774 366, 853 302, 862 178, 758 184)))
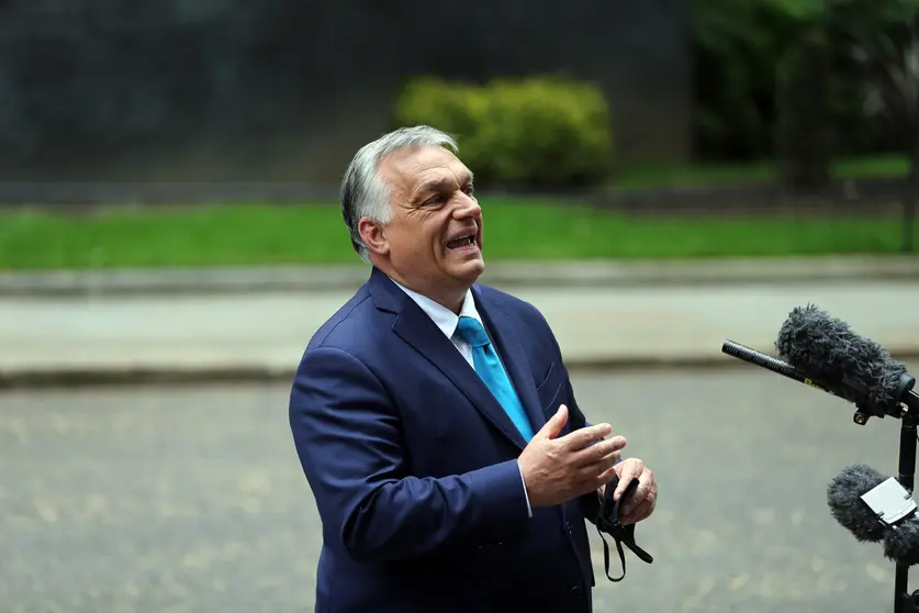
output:
POLYGON ((612 168, 608 105, 590 83, 542 77, 478 86, 421 77, 402 91, 394 120, 455 135, 482 186, 584 186, 604 181, 612 168))

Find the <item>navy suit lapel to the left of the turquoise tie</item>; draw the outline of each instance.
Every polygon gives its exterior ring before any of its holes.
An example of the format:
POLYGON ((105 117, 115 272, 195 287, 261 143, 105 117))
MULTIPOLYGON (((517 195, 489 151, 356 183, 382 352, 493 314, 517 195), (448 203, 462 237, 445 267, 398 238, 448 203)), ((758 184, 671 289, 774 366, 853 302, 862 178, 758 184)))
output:
MULTIPOLYGON (((517 447, 526 447, 526 441, 504 408, 422 308, 377 269, 371 276, 370 291, 378 308, 396 313, 393 332, 436 366, 517 447)), ((435 404, 437 399, 430 402, 435 404)))

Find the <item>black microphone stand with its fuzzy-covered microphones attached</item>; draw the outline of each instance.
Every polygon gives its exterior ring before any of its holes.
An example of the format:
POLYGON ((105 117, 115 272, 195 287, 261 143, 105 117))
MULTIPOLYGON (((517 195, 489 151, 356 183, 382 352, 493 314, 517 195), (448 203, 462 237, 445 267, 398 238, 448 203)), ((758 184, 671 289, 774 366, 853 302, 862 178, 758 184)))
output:
POLYGON ((906 489, 912 490, 919 439, 916 378, 881 345, 812 304, 788 314, 775 348, 781 359, 732 341, 721 352, 854 403, 859 425, 871 416, 900 420, 898 479, 885 480, 871 467, 850 467, 828 487, 827 502, 859 540, 883 542, 884 555, 896 561, 894 613, 919 613, 919 590, 908 591, 909 566, 919 564, 919 519, 906 489))

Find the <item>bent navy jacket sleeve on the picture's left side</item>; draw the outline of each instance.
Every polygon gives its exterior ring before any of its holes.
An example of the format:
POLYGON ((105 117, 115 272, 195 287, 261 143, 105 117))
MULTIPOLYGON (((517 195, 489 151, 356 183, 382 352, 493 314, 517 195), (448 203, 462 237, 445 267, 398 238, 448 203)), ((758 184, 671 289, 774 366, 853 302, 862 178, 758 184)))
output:
POLYGON ((405 560, 527 530, 516 459, 438 479, 408 475, 395 403, 345 350, 304 354, 289 413, 324 532, 355 559, 405 560))

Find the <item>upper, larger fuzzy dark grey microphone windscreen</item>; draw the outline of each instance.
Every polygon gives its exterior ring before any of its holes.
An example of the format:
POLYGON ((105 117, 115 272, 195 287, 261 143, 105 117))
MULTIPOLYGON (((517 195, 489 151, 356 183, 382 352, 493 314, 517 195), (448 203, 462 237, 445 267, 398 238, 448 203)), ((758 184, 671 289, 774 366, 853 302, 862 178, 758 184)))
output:
POLYGON ((906 366, 812 304, 788 314, 775 348, 794 368, 850 402, 888 408, 900 401, 906 366))

